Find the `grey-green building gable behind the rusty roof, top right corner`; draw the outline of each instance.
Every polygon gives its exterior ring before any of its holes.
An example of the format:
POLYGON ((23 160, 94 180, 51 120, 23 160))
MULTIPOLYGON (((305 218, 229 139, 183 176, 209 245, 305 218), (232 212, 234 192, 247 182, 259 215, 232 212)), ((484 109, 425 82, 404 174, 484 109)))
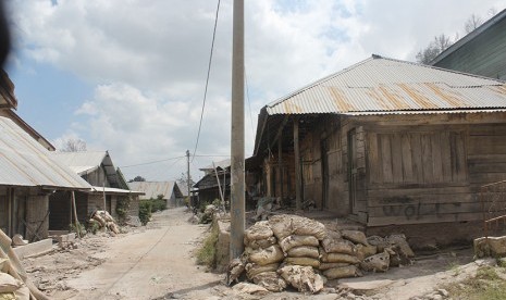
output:
POLYGON ((506 79, 506 10, 448 47, 432 65, 506 79))

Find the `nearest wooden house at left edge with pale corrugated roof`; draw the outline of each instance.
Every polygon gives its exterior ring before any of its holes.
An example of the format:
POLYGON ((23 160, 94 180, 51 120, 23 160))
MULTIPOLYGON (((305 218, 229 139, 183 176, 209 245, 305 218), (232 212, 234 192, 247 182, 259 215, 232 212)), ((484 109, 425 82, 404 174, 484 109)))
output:
POLYGON ((53 160, 54 147, 14 113, 14 85, 0 72, 0 229, 29 241, 48 237, 49 197, 91 186, 53 160))

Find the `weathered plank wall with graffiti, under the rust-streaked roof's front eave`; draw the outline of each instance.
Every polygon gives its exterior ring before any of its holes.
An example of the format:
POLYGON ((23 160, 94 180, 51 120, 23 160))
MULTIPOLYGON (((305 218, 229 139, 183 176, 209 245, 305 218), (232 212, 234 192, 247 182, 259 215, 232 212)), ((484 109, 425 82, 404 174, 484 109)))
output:
POLYGON ((506 124, 368 129, 369 226, 481 220, 479 186, 506 179, 506 124))

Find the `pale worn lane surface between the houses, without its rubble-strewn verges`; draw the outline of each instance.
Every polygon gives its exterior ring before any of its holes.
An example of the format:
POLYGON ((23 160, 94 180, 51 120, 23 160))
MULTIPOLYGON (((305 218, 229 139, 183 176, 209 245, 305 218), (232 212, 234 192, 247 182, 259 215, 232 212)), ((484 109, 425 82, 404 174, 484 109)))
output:
MULTIPOLYGON (((95 257, 106 262, 67 280, 79 290, 72 299, 156 299, 187 293, 219 284, 221 276, 205 273, 190 252, 208 226, 187 222, 183 208, 153 215, 152 229, 108 241, 95 257)), ((207 293, 206 296, 209 296, 207 293)))

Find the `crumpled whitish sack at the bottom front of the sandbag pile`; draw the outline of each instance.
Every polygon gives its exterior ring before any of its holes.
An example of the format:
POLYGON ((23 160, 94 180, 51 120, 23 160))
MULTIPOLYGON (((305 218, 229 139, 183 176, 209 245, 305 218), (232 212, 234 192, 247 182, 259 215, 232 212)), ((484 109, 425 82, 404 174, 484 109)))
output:
POLYGON ((286 265, 277 273, 300 292, 319 292, 323 289, 323 278, 310 266, 286 265))

